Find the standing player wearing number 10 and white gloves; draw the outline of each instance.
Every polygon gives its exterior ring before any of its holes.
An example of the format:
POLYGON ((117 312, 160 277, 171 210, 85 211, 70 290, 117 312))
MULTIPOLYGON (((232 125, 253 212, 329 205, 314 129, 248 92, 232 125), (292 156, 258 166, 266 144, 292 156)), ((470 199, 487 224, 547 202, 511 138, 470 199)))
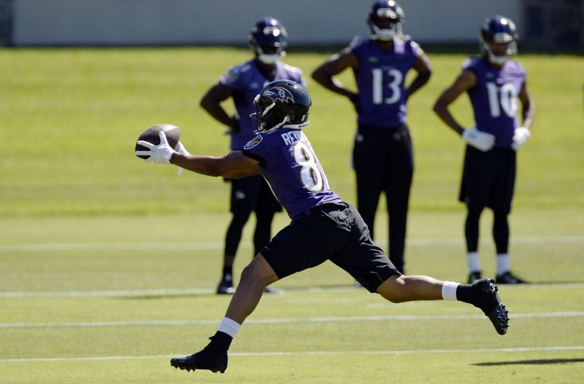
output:
POLYGON ((530 136, 535 108, 526 72, 517 61, 517 32, 504 16, 486 19, 480 29, 481 56, 462 64, 462 73, 434 104, 434 112, 467 143, 460 201, 467 204, 464 235, 467 241, 469 283, 482 278, 479 263, 479 219, 485 207, 493 210, 493 238, 497 250, 499 284, 526 283, 510 272, 507 217, 511 210, 517 150, 530 136), (475 115, 470 129, 454 119, 449 104, 467 92, 475 115), (521 101, 521 120, 517 99, 521 101))

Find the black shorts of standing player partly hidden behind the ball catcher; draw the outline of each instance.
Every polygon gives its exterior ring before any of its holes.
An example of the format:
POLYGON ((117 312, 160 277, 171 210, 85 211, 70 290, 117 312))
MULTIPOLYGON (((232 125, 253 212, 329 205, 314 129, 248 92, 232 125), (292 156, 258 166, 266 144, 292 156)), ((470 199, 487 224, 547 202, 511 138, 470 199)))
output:
POLYGON ((240 179, 225 179, 231 182, 232 213, 241 211, 280 212, 282 206, 274 197, 268 183, 261 175, 240 179))

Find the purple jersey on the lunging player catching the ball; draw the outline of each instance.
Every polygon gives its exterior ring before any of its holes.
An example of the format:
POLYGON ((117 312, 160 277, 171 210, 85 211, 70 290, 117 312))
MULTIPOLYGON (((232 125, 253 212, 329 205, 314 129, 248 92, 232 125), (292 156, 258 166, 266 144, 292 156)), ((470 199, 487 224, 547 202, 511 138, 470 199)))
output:
POLYGON ((341 201, 328 188, 312 145, 301 130, 260 132, 242 152, 260 162, 262 175, 293 220, 311 206, 341 201))

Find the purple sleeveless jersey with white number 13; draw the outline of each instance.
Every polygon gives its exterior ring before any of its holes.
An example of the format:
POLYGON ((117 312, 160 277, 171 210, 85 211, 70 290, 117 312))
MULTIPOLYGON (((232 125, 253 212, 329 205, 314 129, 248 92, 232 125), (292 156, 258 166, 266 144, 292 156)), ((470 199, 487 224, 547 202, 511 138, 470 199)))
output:
POLYGON ((374 127, 395 127, 405 123, 405 75, 419 55, 413 40, 394 38, 393 51, 383 51, 376 40, 353 39, 352 52, 359 59, 355 81, 361 111, 357 122, 374 127))

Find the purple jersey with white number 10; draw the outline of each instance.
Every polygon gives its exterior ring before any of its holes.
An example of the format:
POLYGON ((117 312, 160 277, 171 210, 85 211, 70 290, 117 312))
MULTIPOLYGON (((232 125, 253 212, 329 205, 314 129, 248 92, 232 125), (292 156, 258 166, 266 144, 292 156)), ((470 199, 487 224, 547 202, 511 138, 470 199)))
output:
POLYGON ((495 135, 495 147, 509 147, 519 126, 517 95, 525 83, 525 70, 516 61, 498 69, 477 57, 465 60, 462 69, 477 77, 476 86, 468 91, 477 129, 495 135))

